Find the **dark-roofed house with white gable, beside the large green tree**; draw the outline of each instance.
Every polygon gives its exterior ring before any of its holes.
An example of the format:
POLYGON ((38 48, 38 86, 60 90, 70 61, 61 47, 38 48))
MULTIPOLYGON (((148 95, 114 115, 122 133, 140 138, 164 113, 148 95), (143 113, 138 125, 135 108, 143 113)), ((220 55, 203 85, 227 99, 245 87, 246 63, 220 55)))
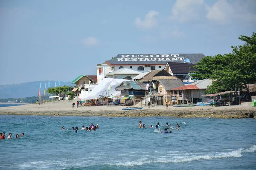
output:
POLYGON ((191 64, 190 62, 180 63, 180 62, 167 62, 165 70, 172 76, 178 79, 184 80, 189 79, 188 74, 190 71, 198 71, 196 68, 191 68, 197 64, 191 64))

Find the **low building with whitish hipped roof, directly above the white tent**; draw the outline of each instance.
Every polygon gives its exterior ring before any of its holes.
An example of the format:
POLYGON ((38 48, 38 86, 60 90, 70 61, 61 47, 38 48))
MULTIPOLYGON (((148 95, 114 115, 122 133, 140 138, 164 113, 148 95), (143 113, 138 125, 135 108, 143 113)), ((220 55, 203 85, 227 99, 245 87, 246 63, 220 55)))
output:
POLYGON ((139 74, 140 74, 139 71, 134 71, 134 70, 131 70, 131 69, 128 69, 128 68, 120 68, 116 71, 109 72, 108 74, 106 74, 106 77, 110 77, 110 78, 113 78, 113 79, 117 79, 117 77, 120 77, 120 76, 133 78, 133 77, 135 77, 139 74))

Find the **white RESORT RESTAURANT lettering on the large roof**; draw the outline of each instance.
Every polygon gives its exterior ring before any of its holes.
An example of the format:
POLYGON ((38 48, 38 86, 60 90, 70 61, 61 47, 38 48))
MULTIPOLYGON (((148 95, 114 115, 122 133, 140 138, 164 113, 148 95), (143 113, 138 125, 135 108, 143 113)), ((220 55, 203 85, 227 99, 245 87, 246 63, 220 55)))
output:
POLYGON ((119 55, 117 61, 183 61, 179 54, 133 54, 119 55))

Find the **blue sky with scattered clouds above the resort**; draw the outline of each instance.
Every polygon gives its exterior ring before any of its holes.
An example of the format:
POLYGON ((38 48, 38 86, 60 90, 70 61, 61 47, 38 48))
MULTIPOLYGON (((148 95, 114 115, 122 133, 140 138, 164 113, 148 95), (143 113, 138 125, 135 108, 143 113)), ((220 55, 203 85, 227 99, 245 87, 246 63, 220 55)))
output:
POLYGON ((0 85, 96 75, 117 54, 232 52, 256 0, 0 0, 0 85))

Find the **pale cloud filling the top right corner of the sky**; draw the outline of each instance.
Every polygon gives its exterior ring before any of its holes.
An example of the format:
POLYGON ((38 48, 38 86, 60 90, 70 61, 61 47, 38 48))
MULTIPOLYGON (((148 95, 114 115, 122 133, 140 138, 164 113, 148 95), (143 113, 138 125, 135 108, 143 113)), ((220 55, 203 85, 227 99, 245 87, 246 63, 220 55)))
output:
POLYGON ((256 1, 237 0, 233 4, 227 0, 217 0, 212 6, 206 5, 207 19, 217 24, 243 22, 256 23, 256 1), (252 8, 254 6, 254 8, 252 8))

